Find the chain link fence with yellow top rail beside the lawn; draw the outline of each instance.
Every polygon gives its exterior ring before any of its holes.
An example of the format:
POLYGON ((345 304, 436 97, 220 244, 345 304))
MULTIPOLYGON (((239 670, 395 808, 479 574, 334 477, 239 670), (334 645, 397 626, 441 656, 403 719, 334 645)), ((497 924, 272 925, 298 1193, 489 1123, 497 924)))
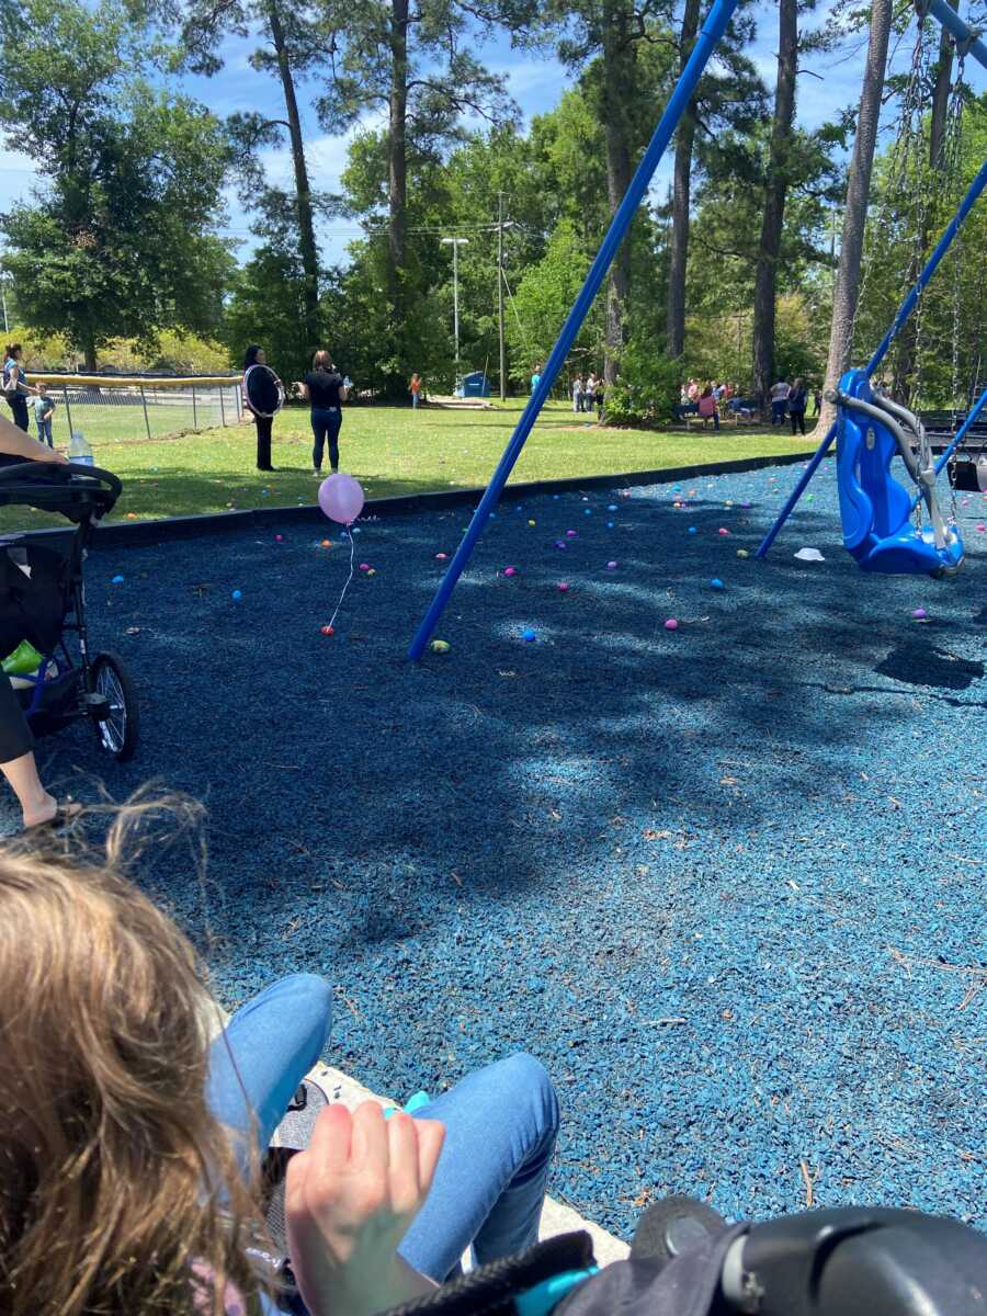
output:
MULTIPOLYGON (((243 415, 240 376, 114 379, 113 376, 29 375, 55 404, 51 433, 67 445, 72 430, 89 442, 167 438, 188 430, 236 425, 243 415)), ((34 400, 28 399, 32 433, 34 400)))

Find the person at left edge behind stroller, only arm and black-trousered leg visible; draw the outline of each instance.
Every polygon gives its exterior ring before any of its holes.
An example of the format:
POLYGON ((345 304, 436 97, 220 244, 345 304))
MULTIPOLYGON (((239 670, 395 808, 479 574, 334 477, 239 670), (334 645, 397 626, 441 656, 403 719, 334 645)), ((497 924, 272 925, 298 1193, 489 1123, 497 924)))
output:
MULTIPOLYGON (((47 443, 38 443, 22 433, 9 420, 0 416, 0 466, 20 462, 66 462, 47 443)), ((4 550, 0 550, 4 551, 4 550)), ((16 567, 13 570, 17 570, 16 567)), ((5 595, 7 599, 11 595, 5 595)), ((5 616, 4 596, 0 596, 0 658, 5 658, 24 640, 13 612, 5 616)), ((8 609, 9 611, 9 609, 8 609)), ((25 828, 68 821, 79 812, 79 805, 59 804, 41 784, 34 761, 34 737, 14 694, 11 678, 0 671, 0 772, 11 784, 21 805, 25 828)))

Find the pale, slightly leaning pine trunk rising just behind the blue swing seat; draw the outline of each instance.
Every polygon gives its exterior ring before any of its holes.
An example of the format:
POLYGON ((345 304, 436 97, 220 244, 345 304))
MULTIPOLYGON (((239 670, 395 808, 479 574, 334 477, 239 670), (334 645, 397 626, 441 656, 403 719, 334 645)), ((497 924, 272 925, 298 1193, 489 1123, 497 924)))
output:
MULTIPOLYGON (((891 34, 891 0, 873 0, 870 11, 870 42, 867 64, 863 71, 861 107, 857 112, 857 138, 853 143, 850 174, 846 180, 846 207, 844 209, 844 236, 840 246, 840 268, 833 290, 833 324, 829 330, 829 361, 825 388, 836 388, 840 376, 850 363, 853 322, 857 316, 857 297, 861 287, 861 259, 863 257, 863 229, 867 222, 870 178, 874 167, 874 147, 878 141, 880 99, 884 91, 887 47, 891 34)), ((833 424, 836 408, 822 403, 816 429, 824 433, 833 424)))

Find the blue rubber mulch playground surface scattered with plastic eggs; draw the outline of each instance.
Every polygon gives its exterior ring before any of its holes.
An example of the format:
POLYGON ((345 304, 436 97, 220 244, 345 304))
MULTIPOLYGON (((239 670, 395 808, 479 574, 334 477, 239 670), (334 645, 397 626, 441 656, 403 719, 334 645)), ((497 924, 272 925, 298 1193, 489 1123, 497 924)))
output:
MULTIPOLYGON (((829 468, 738 558, 795 474, 501 504, 417 667, 462 511, 363 522, 332 638, 338 532, 95 554, 142 751, 80 728, 46 772, 208 803, 226 1004, 328 975, 328 1058, 393 1095, 542 1058, 551 1191, 625 1237, 670 1191, 797 1209, 801 1163, 817 1203, 983 1225, 987 501, 953 582, 861 574, 829 468)), ((146 880, 199 936, 191 865, 146 880)))

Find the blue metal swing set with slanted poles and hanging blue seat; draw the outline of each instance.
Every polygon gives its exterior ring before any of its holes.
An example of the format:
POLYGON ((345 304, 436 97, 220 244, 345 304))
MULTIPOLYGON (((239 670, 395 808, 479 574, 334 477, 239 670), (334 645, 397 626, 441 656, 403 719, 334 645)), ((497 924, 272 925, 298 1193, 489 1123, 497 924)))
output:
MULTIPOLYGON (((630 186, 617 208, 604 236, 600 250, 590 267, 586 282, 562 326, 555 346, 541 371, 537 387, 508 440, 507 447, 487 486, 472 520, 453 555, 438 590, 429 604, 408 657, 417 661, 434 633, 442 612, 468 563, 476 541, 491 513, 496 508, 504 486, 515 468, 521 450, 534 428, 538 413, 558 379, 576 334, 603 286, 613 258, 626 236, 630 222, 651 184, 658 162, 665 154, 696 83, 726 32, 740 0, 715 0, 686 67, 665 107, 654 136, 641 158, 630 186)), ((948 0, 919 0, 920 26, 932 16, 950 33, 961 59, 973 57, 987 68, 987 45, 970 25, 948 4, 948 0)), ((921 39, 921 32, 920 32, 921 39)), ((888 347, 915 311, 923 291, 949 250, 973 205, 987 187, 987 162, 982 166, 963 197, 957 215, 940 238, 915 287, 903 301, 894 324, 871 359, 862 370, 848 371, 840 380, 836 395, 837 420, 820 443, 784 509, 759 546, 763 558, 775 536, 791 515, 805 487, 819 468, 834 441, 838 441, 837 479, 840 482, 840 509, 844 522, 844 542, 857 562, 867 571, 953 574, 962 562, 963 544, 953 519, 944 515, 938 501, 936 479, 970 432, 987 401, 987 391, 971 408, 965 425, 951 438, 946 453, 933 462, 930 445, 921 421, 912 412, 892 404, 883 390, 871 384, 871 376, 884 359, 888 347), (917 486, 912 497, 891 474, 891 462, 900 455, 905 471, 917 486), (912 529, 911 515, 924 505, 923 522, 912 529)), ((954 354, 955 355, 955 354, 954 354)))

